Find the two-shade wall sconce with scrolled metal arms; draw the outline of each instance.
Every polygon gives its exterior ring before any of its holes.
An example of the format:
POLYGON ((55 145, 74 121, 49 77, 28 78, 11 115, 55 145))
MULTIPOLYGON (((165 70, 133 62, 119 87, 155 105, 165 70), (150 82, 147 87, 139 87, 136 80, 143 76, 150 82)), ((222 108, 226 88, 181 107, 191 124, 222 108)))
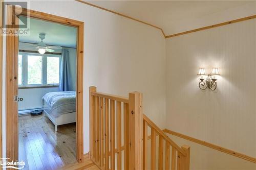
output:
POLYGON ((205 80, 206 74, 205 74, 204 68, 200 68, 197 75, 200 76, 199 80, 201 80, 198 84, 200 89, 206 90, 207 88, 209 88, 210 90, 216 90, 217 88, 216 76, 220 75, 218 68, 212 68, 211 74, 208 75, 206 80, 205 80))

